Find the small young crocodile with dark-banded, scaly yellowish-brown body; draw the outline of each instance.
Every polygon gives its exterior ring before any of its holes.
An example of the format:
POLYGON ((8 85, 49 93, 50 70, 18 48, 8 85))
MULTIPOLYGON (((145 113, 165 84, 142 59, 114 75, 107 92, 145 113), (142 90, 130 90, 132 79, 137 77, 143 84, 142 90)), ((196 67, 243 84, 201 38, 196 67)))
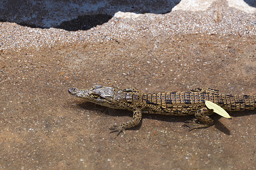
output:
POLYGON ((212 88, 143 94, 137 88, 118 89, 96 85, 86 90, 72 87, 68 92, 105 107, 132 111, 133 120, 110 128, 110 133, 117 131, 117 135, 137 126, 142 119, 142 113, 174 116, 194 114, 195 118, 185 121, 183 126, 188 126, 189 131, 207 128, 213 125, 213 120, 209 117, 213 110, 206 107, 206 100, 219 105, 225 111, 247 111, 256 108, 256 95, 222 95, 212 88))

